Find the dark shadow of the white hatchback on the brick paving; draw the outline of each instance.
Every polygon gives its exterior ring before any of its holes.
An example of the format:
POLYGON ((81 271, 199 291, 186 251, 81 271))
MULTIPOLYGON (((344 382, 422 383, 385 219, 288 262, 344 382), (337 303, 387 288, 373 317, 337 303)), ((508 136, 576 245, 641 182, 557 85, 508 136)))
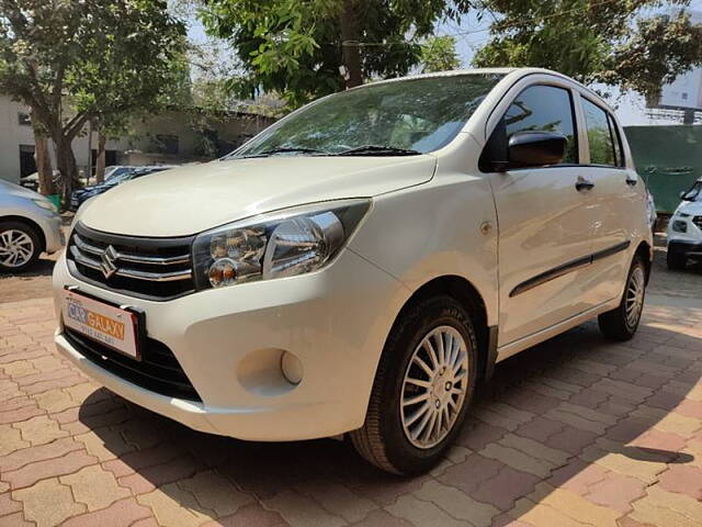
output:
MULTIPOLYGON (((534 506, 522 500, 534 491, 545 498, 578 478, 597 481, 605 469, 620 466, 636 478, 614 472, 613 484, 624 485, 624 495, 634 501, 657 474, 694 459, 682 451, 679 436, 655 427, 699 381, 694 355, 702 351, 702 340, 676 327, 689 329, 701 313, 647 306, 638 334, 627 343, 607 341, 596 323, 587 323, 501 362, 478 391, 448 459, 414 479, 374 469, 343 441, 244 442, 201 434, 104 389, 84 402, 80 421, 120 458, 111 470, 136 493, 160 487, 181 502, 184 480, 214 470, 223 484, 233 485, 231 493, 242 491, 269 509, 291 492, 319 498, 337 489, 346 494, 335 495, 349 501, 387 506, 438 483, 489 504, 492 525, 503 525, 509 517, 502 513, 516 504, 520 514, 534 506)), ((200 490, 212 493, 213 502, 222 492, 200 490)), ((319 500, 297 503, 304 509, 319 500)), ((608 503, 607 495, 600 500, 610 508, 622 505, 608 503)), ((193 503, 186 505, 199 507, 193 503)))

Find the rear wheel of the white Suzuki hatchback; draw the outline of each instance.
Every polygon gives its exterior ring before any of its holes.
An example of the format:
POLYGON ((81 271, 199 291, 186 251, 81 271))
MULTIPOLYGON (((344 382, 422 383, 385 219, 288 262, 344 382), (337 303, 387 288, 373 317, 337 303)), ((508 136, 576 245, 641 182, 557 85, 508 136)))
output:
POLYGON ((626 287, 619 306, 602 313, 598 323, 605 337, 629 340, 636 333, 646 298, 646 266, 639 256, 629 270, 626 287))

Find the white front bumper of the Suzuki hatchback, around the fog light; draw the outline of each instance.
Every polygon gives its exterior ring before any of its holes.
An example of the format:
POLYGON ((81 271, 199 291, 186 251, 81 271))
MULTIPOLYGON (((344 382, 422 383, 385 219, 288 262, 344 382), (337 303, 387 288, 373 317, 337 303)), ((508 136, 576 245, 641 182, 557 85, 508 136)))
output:
MULTIPOLYGON (((80 282, 63 256, 54 288, 58 293, 66 285, 143 310, 148 336, 171 349, 202 403, 160 395, 111 373, 71 346, 59 325, 57 348, 84 373, 192 428, 272 441, 328 437, 363 424, 381 351, 409 294, 350 249, 319 272, 168 302, 80 282), (283 350, 302 361, 298 385, 280 373, 283 350)), ((56 307, 60 319, 58 300, 56 307)))

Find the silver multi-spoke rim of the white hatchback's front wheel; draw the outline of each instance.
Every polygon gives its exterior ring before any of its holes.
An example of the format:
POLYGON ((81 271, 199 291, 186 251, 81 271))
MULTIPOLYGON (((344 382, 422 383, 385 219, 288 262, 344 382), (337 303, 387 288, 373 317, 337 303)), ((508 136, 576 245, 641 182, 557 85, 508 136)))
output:
POLYGON ((465 339, 451 326, 439 326, 415 349, 400 396, 405 436, 417 448, 439 445, 461 413, 468 382, 465 339))

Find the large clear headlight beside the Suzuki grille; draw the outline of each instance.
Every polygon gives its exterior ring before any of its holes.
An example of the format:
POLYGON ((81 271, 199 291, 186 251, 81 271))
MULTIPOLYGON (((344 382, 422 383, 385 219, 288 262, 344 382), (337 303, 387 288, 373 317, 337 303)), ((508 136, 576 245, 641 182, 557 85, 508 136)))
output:
POLYGON ((199 290, 316 271, 343 247, 371 200, 305 205, 230 223, 193 243, 199 290))

